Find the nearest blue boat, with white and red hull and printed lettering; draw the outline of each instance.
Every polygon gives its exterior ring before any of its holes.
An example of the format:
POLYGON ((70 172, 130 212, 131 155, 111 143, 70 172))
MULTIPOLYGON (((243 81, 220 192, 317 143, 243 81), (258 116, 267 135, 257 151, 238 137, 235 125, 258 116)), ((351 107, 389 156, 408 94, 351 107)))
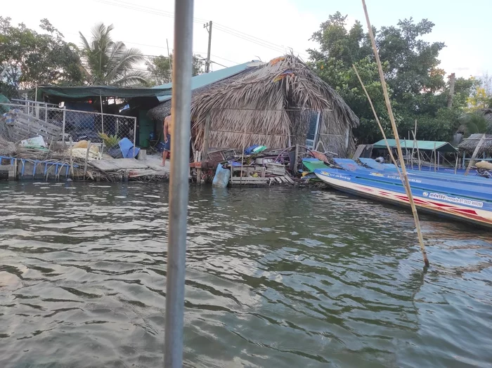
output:
MULTIPOLYGON (((364 169, 350 161, 346 162, 344 169, 316 169, 314 173, 330 187, 342 192, 410 206, 397 173, 364 169)), ((409 176, 409 180, 415 206, 420 211, 492 228, 492 188, 421 176, 409 176)))

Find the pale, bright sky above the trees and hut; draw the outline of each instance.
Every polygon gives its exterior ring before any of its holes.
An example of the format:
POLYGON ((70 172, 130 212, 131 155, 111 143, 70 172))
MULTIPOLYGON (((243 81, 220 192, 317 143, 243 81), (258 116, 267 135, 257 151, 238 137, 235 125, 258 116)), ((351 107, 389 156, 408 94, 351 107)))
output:
MULTIPOLYGON (((432 34, 425 39, 446 44, 439 59, 447 74, 478 77, 492 72, 488 46, 492 0, 366 0, 366 4, 377 28, 405 18, 434 22, 432 34)), ((306 60, 306 49, 316 48, 309 41, 311 35, 337 11, 347 15, 349 23, 364 20, 360 0, 195 0, 193 51, 207 56, 204 24, 212 20, 211 70, 268 61, 290 49, 306 60)), ((171 53, 174 44, 174 0, 24 0, 22 8, 7 1, 1 15, 37 30, 39 20, 48 18, 67 41, 76 44, 80 44, 78 33, 90 37, 97 22, 114 25, 113 39, 139 48, 144 55, 167 55, 167 41, 171 53)))

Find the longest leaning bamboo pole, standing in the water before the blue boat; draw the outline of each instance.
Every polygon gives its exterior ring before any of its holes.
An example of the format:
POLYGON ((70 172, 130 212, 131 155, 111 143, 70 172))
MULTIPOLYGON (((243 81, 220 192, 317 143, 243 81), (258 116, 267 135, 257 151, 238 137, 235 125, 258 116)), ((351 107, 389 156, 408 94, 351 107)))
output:
POLYGON ((415 228, 417 228, 417 237, 420 244, 420 250, 422 251, 422 257, 424 258, 425 266, 429 266, 429 260, 427 259, 427 251, 425 251, 424 239, 422 237, 422 230, 420 229, 420 221, 418 219, 417 208, 415 207, 415 202, 413 202, 412 190, 410 189, 410 181, 408 180, 408 173, 406 171, 405 162, 403 161, 403 152, 401 151, 400 138, 398 135, 398 128, 396 127, 396 121, 394 119, 393 110, 391 109, 391 103, 389 102, 389 94, 386 87, 386 81, 384 81, 384 73, 382 71, 382 65, 380 60, 380 55, 377 53, 376 41, 373 34, 373 27, 370 25, 368 8, 365 6, 365 0, 362 0, 362 5, 365 13, 365 20, 368 23, 368 31, 370 36, 371 44, 373 45, 373 51, 376 58, 377 69, 380 72, 380 79, 382 84, 382 91, 384 93, 384 101, 386 102, 386 107, 388 109, 389 120, 391 121, 391 127, 393 128, 394 139, 396 141, 396 151, 401 162, 401 172, 403 173, 403 187, 405 187, 406 194, 408 197, 408 202, 412 208, 413 218, 415 220, 415 228))

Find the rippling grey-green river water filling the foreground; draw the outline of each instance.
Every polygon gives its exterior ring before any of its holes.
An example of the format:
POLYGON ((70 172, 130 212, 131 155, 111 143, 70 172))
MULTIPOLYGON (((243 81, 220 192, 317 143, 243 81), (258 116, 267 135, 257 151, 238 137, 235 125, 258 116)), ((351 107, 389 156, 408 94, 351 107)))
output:
MULTIPOLYGON (((0 184, 0 367, 162 367, 167 186, 0 184)), ((190 189, 187 367, 487 367, 492 237, 337 192, 190 189)))

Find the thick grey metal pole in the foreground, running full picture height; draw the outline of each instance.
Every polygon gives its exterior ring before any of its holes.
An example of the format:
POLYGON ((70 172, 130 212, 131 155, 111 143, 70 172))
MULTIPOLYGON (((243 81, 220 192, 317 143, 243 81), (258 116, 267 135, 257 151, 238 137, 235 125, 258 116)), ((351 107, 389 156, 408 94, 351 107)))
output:
POLYGON ((186 217, 190 157, 193 0, 174 1, 174 63, 171 98, 171 176, 167 243, 164 367, 183 364, 183 314, 186 266, 186 217))

